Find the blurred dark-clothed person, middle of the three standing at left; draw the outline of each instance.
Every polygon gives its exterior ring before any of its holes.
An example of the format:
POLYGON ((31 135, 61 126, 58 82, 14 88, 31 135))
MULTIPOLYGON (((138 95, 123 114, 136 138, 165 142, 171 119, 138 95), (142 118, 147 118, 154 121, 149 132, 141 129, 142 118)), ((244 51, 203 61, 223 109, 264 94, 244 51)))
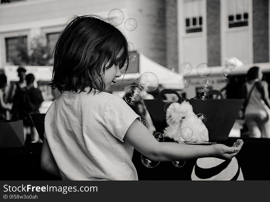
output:
POLYGON ((22 97, 23 97, 23 89, 26 87, 25 82, 25 72, 26 69, 23 66, 19 66, 17 69, 19 81, 12 85, 9 95, 9 102, 13 103, 13 107, 11 110, 12 119, 19 120, 25 119, 23 117, 23 106, 22 106, 22 97))

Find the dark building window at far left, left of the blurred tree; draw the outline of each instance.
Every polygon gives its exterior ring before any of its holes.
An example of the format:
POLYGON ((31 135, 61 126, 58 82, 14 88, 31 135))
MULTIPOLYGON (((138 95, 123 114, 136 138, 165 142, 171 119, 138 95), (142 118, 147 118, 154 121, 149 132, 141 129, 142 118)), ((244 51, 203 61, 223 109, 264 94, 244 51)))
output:
POLYGON ((6 42, 6 61, 14 62, 18 57, 28 55, 27 52, 27 36, 5 38, 6 42))

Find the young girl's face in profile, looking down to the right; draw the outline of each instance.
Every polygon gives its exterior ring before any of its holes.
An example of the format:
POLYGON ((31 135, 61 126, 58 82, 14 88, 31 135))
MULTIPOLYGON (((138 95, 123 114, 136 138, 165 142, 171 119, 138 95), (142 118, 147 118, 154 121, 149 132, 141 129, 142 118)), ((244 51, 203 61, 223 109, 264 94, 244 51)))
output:
MULTIPOLYGON (((118 53, 117 57, 121 56, 121 52, 118 53)), ((109 63, 107 63, 108 65, 109 63)), ((109 69, 105 70, 104 74, 104 82, 105 82, 105 89, 104 91, 108 91, 111 86, 114 86, 116 83, 116 78, 121 76, 121 71, 119 69, 119 64, 114 64, 109 69)))

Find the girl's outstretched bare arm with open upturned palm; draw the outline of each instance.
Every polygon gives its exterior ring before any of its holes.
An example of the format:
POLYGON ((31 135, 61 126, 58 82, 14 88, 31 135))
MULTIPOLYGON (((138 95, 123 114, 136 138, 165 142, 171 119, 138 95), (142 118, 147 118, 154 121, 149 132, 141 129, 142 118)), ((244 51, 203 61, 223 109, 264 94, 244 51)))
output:
POLYGON ((173 142, 158 142, 149 130, 135 120, 127 130, 125 137, 131 146, 143 155, 155 161, 176 161, 202 157, 231 159, 241 150, 243 141, 237 140, 232 147, 226 145, 185 145, 173 142))

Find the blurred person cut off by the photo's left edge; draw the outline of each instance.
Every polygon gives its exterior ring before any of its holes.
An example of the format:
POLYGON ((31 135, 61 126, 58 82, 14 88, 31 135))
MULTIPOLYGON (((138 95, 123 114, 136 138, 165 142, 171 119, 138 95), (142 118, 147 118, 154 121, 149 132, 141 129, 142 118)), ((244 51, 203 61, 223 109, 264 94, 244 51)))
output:
POLYGON ((7 79, 5 74, 0 74, 0 120, 7 120, 8 111, 11 110, 12 105, 7 103, 6 99, 7 79))

